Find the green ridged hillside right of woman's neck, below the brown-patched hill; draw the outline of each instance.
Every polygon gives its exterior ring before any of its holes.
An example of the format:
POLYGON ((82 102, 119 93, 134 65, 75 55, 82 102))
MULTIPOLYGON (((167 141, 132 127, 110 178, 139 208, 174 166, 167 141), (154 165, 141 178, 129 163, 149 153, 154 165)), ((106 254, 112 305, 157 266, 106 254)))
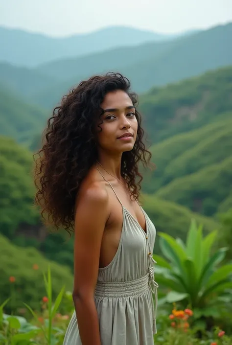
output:
POLYGON ((232 128, 232 113, 226 115, 228 118, 212 121, 202 128, 175 135, 152 145, 150 151, 156 169, 152 172, 145 172, 143 190, 153 193, 170 182, 170 174, 179 177, 178 174, 183 176, 189 173, 188 164, 191 164, 190 172, 196 172, 206 165, 205 161, 214 162, 214 159, 221 160, 220 155, 222 155, 222 159, 227 157, 225 155, 230 155, 227 149, 227 146, 231 145, 231 140, 228 140, 230 135, 226 137, 224 133, 232 128), (218 133, 220 134, 218 135, 218 133), (225 145, 225 153, 223 150, 218 152, 217 147, 215 149, 214 138, 217 136, 221 146, 225 145), (208 157, 204 157, 205 147, 208 150, 208 157))

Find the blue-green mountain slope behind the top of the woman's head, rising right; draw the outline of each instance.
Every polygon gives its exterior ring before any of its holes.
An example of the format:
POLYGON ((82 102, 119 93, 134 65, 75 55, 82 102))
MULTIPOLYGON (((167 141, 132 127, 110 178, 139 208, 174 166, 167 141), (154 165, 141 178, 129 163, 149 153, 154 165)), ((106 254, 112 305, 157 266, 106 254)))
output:
POLYGON ((136 92, 199 75, 232 64, 232 23, 216 26, 171 42, 120 48, 77 59, 60 60, 37 69, 63 76, 64 83, 47 85, 35 92, 38 104, 53 107, 64 92, 95 73, 120 71, 132 81, 136 92), (225 45, 224 42, 227 42, 225 45))

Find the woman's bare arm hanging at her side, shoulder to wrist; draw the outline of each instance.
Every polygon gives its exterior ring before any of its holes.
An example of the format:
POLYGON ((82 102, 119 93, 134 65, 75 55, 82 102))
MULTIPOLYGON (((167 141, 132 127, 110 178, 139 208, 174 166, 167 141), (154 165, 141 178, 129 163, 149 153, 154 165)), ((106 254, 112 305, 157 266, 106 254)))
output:
POLYGON ((107 205, 107 191, 93 185, 79 198, 75 213, 73 301, 82 345, 101 345, 94 290, 107 205))

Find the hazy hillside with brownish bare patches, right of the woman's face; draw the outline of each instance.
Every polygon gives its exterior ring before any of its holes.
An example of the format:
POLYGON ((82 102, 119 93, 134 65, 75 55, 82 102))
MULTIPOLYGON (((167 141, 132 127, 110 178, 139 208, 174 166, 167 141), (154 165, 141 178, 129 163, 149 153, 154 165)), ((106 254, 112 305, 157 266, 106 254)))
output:
POLYGON ((144 126, 152 142, 209 124, 232 110, 232 67, 216 69, 140 97, 144 126))

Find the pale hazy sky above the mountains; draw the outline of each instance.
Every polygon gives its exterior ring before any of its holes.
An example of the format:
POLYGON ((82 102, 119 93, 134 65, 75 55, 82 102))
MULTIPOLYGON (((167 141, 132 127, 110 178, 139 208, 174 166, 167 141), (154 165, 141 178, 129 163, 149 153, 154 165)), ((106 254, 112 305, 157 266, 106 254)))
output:
POLYGON ((66 36, 109 25, 175 33, 232 21, 232 0, 0 0, 0 25, 66 36))

